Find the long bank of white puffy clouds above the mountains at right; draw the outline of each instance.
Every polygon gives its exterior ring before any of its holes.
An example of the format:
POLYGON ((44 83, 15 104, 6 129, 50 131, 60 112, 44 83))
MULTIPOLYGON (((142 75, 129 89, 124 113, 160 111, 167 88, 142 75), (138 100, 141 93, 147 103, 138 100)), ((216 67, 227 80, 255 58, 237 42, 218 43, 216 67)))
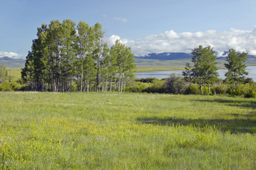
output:
POLYGON ((159 35, 148 35, 137 40, 126 40, 117 35, 110 37, 112 42, 117 38, 125 45, 132 47, 136 56, 161 52, 191 52, 198 45, 204 47, 210 45, 217 52, 234 48, 240 52, 248 52, 249 55, 256 55, 256 26, 254 30, 231 28, 223 32, 207 30, 196 33, 176 33, 174 30, 167 30, 159 35))

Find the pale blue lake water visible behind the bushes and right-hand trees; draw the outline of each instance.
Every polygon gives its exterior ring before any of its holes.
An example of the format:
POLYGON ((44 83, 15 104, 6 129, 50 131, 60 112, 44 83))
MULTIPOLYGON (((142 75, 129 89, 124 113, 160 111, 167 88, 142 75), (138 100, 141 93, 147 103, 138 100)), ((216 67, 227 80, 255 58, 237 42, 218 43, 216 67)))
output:
MULTIPOLYGON (((218 69, 218 74, 220 79, 225 79, 225 73, 227 72, 227 69, 218 69)), ((247 66, 245 69, 246 72, 249 74, 247 77, 250 77, 253 79, 253 81, 256 81, 256 66, 247 66)), ((155 77, 157 79, 163 79, 170 76, 170 74, 180 74, 182 75, 182 70, 175 70, 175 71, 154 71, 154 72, 137 72, 134 73, 135 77, 137 79, 147 78, 147 77, 155 77)))

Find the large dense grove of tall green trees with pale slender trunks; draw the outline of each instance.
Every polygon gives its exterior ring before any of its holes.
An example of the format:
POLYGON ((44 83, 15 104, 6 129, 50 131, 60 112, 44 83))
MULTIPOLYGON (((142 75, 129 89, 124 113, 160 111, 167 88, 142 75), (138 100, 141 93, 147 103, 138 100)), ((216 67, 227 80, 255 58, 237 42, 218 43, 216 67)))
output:
POLYGON ((21 78, 30 91, 124 91, 134 55, 119 40, 108 47, 100 23, 51 21, 37 29, 21 78))

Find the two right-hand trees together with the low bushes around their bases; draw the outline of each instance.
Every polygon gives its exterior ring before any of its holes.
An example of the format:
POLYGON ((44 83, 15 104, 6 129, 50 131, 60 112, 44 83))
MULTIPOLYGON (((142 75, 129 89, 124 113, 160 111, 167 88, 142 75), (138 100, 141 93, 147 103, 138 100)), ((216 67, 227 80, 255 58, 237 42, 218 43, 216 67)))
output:
POLYGON ((247 53, 229 50, 224 64, 228 71, 225 79, 218 79, 217 62, 213 47, 199 45, 192 50, 191 63, 186 63, 181 75, 171 74, 167 79, 137 79, 128 91, 166 94, 223 94, 256 98, 256 84, 245 79, 247 53))

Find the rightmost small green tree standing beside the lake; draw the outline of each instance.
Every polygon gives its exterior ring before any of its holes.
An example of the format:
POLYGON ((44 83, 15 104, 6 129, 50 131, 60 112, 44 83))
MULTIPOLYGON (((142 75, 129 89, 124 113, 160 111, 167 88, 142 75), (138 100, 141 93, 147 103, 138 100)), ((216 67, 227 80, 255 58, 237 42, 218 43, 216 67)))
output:
POLYGON ((228 69, 228 72, 225 73, 225 77, 227 77, 230 83, 234 84, 235 93, 237 93, 239 82, 245 81, 245 75, 248 74, 248 72, 245 72, 246 57, 246 52, 239 53, 235 52, 234 49, 230 49, 228 57, 226 57, 228 63, 224 65, 228 69))

